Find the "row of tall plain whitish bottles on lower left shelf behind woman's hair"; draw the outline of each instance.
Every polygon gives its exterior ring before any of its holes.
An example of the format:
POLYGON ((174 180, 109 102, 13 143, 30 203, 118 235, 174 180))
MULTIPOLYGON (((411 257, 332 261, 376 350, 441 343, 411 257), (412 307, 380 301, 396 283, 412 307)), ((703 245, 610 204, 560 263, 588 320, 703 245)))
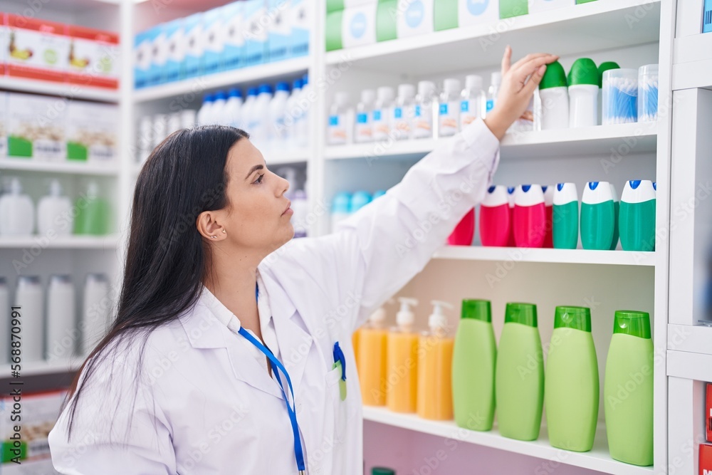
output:
POLYGON ((14 295, 0 278, 0 324, 21 328, 21 352, 11 338, 0 341, 0 364, 65 360, 93 350, 108 330, 110 288, 103 273, 88 273, 80 308, 72 278, 55 274, 43 289, 38 276, 19 276, 14 295))

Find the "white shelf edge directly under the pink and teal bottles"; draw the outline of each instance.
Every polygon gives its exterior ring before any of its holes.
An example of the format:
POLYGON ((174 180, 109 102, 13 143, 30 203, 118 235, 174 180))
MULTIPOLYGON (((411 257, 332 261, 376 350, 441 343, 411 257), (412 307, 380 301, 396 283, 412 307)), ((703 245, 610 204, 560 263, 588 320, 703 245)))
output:
POLYGON ((608 266, 654 266, 654 252, 535 249, 523 247, 444 246, 433 259, 513 261, 608 266))

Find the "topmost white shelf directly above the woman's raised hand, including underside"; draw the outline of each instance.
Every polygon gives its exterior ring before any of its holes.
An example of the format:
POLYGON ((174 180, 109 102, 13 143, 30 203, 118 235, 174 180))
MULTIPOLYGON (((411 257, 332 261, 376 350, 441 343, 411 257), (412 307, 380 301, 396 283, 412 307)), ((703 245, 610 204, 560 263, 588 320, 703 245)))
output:
POLYGON ((530 51, 565 56, 653 43, 659 41, 659 24, 660 0, 599 0, 498 24, 330 51, 325 61, 355 61, 359 68, 407 75, 446 73, 498 65, 506 45, 520 57, 530 51))

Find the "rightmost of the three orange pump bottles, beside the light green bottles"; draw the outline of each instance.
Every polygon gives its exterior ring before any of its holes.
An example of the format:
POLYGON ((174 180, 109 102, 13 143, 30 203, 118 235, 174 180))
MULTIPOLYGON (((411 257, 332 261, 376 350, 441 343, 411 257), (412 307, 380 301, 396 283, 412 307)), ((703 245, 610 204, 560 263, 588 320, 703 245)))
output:
POLYGON ((430 331, 418 341, 418 415, 424 419, 449 420, 452 410, 452 348, 454 339, 447 335, 447 317, 442 308, 447 302, 432 301, 428 320, 430 331))

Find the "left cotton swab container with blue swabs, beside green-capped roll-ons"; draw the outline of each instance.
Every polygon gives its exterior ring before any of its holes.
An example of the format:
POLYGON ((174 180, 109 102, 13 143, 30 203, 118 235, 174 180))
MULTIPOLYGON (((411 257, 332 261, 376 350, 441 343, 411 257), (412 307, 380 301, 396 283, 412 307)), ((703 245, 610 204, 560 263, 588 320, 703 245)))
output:
POLYGON ((638 71, 611 69, 603 73, 603 124, 638 120, 638 71))

